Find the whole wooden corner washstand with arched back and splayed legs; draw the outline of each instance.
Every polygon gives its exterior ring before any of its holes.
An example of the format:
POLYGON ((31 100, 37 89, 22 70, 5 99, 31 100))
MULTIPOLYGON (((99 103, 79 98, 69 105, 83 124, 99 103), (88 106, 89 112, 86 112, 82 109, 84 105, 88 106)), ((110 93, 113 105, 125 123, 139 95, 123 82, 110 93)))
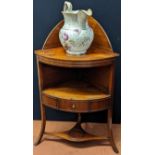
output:
POLYGON ((43 48, 36 50, 41 130, 35 145, 41 142, 45 133, 45 107, 77 113, 76 125, 65 132, 52 135, 74 142, 106 140, 118 153, 112 134, 112 105, 115 59, 118 56, 101 25, 89 17, 94 30, 94 40, 85 55, 66 54, 59 41, 59 30, 63 21, 49 33, 43 48), (87 133, 81 127, 81 113, 107 110, 107 136, 87 133))

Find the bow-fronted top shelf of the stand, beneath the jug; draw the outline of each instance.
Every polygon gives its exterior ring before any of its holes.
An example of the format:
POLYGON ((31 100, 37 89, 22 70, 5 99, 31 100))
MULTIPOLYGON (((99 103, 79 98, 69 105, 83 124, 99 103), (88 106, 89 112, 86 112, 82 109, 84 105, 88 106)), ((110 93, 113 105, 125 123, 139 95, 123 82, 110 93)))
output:
POLYGON ((95 67, 111 63, 118 54, 111 49, 91 48, 85 55, 68 55, 62 47, 36 50, 40 62, 61 67, 95 67))

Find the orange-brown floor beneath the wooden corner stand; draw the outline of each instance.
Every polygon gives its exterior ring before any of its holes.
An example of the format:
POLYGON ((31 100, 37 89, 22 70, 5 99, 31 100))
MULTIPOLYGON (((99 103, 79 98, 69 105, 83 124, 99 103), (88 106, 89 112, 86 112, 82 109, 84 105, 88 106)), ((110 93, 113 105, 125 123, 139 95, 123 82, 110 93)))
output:
MULTIPOLYGON (((40 130, 40 121, 34 121, 33 137, 36 139, 40 130)), ((75 122, 47 121, 46 132, 61 132, 71 129, 75 122)), ((121 154, 121 125, 113 124, 114 140, 121 154)), ((106 135, 107 125, 100 123, 84 123, 82 127, 89 133, 106 135)), ((33 148, 33 155, 116 155, 111 146, 105 146, 106 142, 91 141, 74 143, 60 140, 56 137, 44 135, 42 143, 33 148)))

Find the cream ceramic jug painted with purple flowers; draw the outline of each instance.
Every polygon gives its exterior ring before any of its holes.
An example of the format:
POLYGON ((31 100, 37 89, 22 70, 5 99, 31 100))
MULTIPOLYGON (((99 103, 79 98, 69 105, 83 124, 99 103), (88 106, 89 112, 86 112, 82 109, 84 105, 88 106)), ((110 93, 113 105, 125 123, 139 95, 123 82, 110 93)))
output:
POLYGON ((87 22, 92 10, 72 8, 72 4, 65 1, 62 11, 64 25, 59 32, 59 39, 68 54, 81 55, 87 52, 94 38, 94 32, 87 22))

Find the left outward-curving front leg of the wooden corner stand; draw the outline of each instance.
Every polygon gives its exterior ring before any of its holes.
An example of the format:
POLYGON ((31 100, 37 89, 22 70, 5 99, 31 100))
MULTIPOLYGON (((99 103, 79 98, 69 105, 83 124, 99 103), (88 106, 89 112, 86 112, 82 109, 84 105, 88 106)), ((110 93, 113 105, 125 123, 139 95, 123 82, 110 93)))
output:
POLYGON ((40 133, 39 133, 37 140, 34 143, 35 146, 41 142, 42 136, 43 136, 44 131, 45 131, 45 126, 46 126, 45 106, 41 105, 41 130, 40 130, 40 133))

